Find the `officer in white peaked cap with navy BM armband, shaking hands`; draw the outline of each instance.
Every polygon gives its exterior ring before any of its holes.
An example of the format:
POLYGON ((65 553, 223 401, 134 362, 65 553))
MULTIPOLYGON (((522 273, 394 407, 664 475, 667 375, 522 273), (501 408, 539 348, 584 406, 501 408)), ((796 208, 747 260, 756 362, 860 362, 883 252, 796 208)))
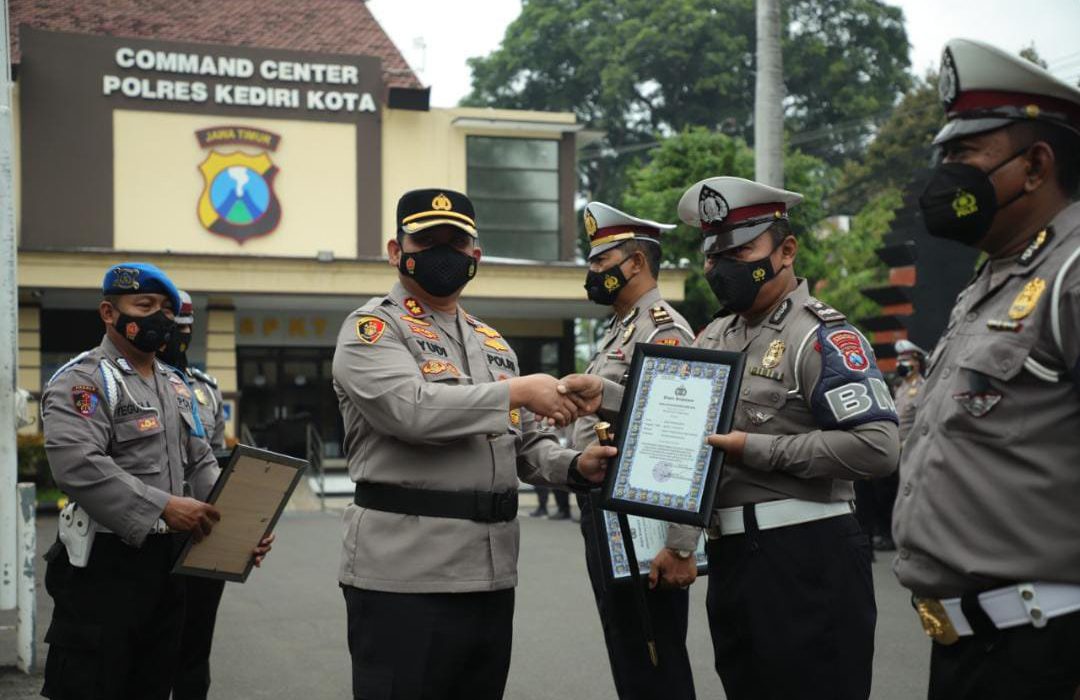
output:
MULTIPOLYGON (((727 697, 865 700, 877 617, 852 480, 896 468, 896 415, 869 344, 797 278, 787 220, 800 194, 713 177, 679 216, 704 235, 705 279, 729 315, 694 347, 745 352, 707 530, 708 621, 727 697)), ((600 387, 564 379, 582 408, 600 387)), ((604 410, 618 385, 603 383, 604 410)))

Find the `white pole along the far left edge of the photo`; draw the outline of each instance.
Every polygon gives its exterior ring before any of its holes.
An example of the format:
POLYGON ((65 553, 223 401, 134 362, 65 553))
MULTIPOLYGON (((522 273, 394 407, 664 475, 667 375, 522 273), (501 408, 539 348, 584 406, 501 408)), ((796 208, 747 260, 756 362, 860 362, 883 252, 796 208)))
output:
POLYGON ((0 609, 16 605, 18 476, 15 382, 18 367, 18 293, 15 282, 15 180, 12 133, 11 35, 8 0, 0 0, 0 609))

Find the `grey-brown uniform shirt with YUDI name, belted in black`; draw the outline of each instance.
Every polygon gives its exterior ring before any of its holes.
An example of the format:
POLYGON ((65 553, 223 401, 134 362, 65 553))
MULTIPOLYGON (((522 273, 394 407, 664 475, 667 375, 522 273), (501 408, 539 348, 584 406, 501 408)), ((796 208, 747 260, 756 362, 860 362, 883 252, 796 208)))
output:
MULTIPOLYGON (((518 477, 561 486, 576 450, 510 409, 517 358, 459 310, 424 309, 401 284, 346 319, 334 388, 354 482, 508 492, 518 477)), ((495 591, 517 582, 517 521, 477 523, 350 504, 339 580, 400 593, 495 591)))

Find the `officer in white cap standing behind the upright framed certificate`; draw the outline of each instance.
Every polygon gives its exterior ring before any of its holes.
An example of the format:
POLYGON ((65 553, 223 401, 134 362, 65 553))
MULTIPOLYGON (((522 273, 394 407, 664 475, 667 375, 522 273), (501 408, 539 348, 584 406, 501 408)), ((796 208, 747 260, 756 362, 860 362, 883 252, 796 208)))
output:
MULTIPOLYGON (((622 383, 638 342, 669 346, 693 342, 686 320, 661 298, 657 288, 661 235, 675 227, 630 216, 602 202, 585 205, 584 219, 591 248, 585 292, 591 301, 615 311, 585 372, 622 383)), ((583 416, 575 422, 576 446, 584 448, 595 442, 596 421, 595 416, 583 416)), ((663 659, 657 668, 646 652, 633 589, 629 584, 606 582, 599 548, 607 547, 608 539, 605 521, 597 517, 592 507, 594 501, 592 495, 578 496, 585 564, 619 698, 693 698, 693 673, 686 650, 690 598, 686 587, 697 576, 693 552, 701 530, 686 525, 667 528, 667 548, 681 566, 678 571, 674 568, 665 571, 664 585, 647 594, 657 651, 663 659)), ((653 587, 660 575, 654 566, 653 587)))

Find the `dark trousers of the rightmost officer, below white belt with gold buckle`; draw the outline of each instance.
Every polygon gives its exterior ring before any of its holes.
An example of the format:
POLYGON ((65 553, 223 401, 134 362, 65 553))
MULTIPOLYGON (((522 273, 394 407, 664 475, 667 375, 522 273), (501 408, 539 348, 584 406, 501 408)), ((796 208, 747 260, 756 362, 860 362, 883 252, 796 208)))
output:
POLYGON ((1080 698, 1080 612, 1054 618, 1041 630, 997 630, 982 608, 969 609, 964 615, 975 634, 933 645, 930 700, 1080 698))

